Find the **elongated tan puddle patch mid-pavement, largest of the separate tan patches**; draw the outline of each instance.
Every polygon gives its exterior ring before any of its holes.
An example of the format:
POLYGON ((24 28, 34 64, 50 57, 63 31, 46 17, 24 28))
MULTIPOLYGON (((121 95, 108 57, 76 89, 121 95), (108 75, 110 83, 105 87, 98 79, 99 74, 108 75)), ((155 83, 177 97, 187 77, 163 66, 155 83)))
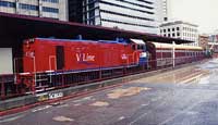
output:
POLYGON ((120 89, 112 90, 111 93, 108 93, 108 98, 109 99, 119 99, 121 97, 130 97, 130 96, 137 95, 141 91, 149 90, 149 89, 150 88, 145 88, 145 87, 130 87, 126 89, 120 88, 120 89))

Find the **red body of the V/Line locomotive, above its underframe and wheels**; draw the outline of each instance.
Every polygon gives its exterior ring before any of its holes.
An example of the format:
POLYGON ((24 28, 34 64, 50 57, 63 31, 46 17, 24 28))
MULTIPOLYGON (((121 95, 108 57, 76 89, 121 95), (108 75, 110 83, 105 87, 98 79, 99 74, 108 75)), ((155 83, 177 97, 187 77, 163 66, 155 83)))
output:
POLYGON ((145 51, 143 47, 137 49, 137 46, 124 40, 28 39, 23 45, 23 72, 88 71, 137 65, 140 61, 142 63, 140 55, 145 51))

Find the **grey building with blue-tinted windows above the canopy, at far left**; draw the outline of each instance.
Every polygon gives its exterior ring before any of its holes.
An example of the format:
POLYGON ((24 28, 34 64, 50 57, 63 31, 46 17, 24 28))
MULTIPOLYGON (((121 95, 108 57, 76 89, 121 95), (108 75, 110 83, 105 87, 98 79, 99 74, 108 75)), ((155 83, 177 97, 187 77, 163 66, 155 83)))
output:
POLYGON ((0 12, 68 21, 68 0, 1 0, 0 12))

